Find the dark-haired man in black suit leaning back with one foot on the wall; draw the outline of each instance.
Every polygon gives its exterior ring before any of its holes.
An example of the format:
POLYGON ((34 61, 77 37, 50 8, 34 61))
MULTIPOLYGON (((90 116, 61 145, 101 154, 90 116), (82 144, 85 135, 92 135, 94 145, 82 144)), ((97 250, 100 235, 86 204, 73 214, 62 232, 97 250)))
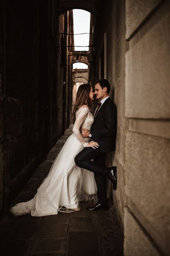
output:
POLYGON ((115 150, 116 147, 116 105, 109 97, 111 86, 106 79, 99 79, 94 86, 96 99, 100 100, 94 113, 94 123, 91 126, 91 133, 87 129, 82 129, 82 137, 91 137, 93 141, 99 144, 98 148, 84 148, 76 157, 75 163, 80 168, 94 172, 97 185, 98 202, 94 207, 88 207, 89 210, 107 210, 107 186, 106 177, 113 183, 113 189, 116 189, 117 177, 116 166, 106 168, 106 154, 115 150), (91 161, 94 159, 94 162, 91 161))

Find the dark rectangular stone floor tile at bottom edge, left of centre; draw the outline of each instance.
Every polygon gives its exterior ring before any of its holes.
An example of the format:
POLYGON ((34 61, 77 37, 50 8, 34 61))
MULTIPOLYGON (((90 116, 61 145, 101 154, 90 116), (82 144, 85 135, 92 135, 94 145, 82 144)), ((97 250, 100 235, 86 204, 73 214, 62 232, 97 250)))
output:
POLYGON ((65 252, 66 239, 40 239, 34 241, 31 253, 65 252))

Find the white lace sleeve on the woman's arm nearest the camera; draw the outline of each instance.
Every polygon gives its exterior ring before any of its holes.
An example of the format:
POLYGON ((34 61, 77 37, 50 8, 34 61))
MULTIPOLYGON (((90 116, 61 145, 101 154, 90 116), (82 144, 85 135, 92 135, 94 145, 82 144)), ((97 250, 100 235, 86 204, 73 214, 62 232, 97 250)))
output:
POLYGON ((77 139, 79 140, 79 142, 81 142, 84 147, 88 145, 88 142, 85 142, 79 129, 82 123, 84 122, 85 118, 87 117, 87 114, 88 114, 88 108, 86 107, 79 108, 79 110, 76 113, 76 121, 74 123, 73 130, 72 130, 76 135, 77 139))

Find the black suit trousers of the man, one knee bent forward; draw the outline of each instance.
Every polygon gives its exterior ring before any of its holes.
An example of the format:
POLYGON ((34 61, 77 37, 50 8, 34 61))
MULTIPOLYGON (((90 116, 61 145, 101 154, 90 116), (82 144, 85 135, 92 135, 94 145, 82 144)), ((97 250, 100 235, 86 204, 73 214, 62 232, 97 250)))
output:
POLYGON ((98 202, 107 206, 106 175, 102 174, 106 169, 106 153, 102 153, 100 148, 84 148, 74 160, 80 168, 94 172, 98 202), (91 159, 94 159, 94 162, 91 159))

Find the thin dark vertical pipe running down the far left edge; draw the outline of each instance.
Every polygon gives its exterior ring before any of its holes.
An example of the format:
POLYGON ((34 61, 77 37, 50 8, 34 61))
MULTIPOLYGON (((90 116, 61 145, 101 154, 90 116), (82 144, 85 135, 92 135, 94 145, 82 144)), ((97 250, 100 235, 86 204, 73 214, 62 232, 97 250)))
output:
POLYGON ((5 212, 8 207, 6 105, 6 0, 3 0, 3 210, 5 212))

